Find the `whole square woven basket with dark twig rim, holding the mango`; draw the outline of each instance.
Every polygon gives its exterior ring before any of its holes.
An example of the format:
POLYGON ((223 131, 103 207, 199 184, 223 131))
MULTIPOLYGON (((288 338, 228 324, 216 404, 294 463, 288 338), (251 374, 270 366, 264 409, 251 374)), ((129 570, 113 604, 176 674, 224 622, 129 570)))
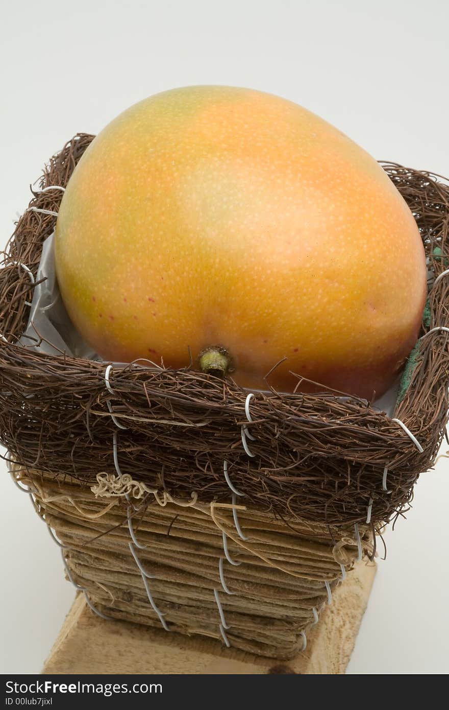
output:
MULTIPOLYGON (((428 262, 392 416, 340 393, 248 393, 192 368, 115 366, 19 342, 43 241, 93 136, 72 138, 0 269, 0 432, 11 474, 100 616, 289 659, 409 508, 448 422, 449 187, 384 164, 428 262)), ((269 380, 267 380, 269 386, 269 380)))

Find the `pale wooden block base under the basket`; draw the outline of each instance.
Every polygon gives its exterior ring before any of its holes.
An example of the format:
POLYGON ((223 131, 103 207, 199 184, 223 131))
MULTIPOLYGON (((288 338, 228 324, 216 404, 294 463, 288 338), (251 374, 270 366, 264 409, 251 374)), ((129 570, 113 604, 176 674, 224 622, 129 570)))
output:
POLYGON ((284 662, 225 648, 211 638, 182 636, 126 621, 105 621, 79 594, 43 673, 343 674, 375 572, 375 564, 357 564, 309 632, 306 650, 284 662))

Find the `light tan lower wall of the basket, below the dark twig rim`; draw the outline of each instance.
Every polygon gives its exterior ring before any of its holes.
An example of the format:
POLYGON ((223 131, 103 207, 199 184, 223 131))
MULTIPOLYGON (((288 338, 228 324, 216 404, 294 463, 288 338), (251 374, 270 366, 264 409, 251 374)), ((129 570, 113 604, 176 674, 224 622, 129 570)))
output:
MULTIPOLYGON (((297 655, 359 555, 353 531, 340 538, 333 530, 335 544, 326 525, 304 521, 294 531, 238 506, 239 537, 232 506, 162 506, 131 496, 128 519, 123 496, 106 503, 74 480, 17 467, 14 475, 33 492, 70 580, 96 613, 210 636, 257 655, 297 655)), ((370 530, 360 530, 359 544, 362 554, 372 553, 370 530)))

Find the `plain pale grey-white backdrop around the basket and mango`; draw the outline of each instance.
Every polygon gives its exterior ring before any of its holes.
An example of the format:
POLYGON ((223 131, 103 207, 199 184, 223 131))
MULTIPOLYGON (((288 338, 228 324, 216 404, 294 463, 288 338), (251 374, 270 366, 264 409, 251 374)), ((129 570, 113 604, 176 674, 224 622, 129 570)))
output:
MULTIPOLYGON (((6 4, 0 245, 28 203, 28 185, 67 138, 188 84, 279 94, 376 158, 448 175, 448 8, 446 0, 6 4)), ((448 464, 441 459, 421 476, 414 510, 387 535, 348 673, 449 670, 448 464)), ((3 464, 0 496, 0 671, 39 672, 74 591, 59 549, 3 464)))

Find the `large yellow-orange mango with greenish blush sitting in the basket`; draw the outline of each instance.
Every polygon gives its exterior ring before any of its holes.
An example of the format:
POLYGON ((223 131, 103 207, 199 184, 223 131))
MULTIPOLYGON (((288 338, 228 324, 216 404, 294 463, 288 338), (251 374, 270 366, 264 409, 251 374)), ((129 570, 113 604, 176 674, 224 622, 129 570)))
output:
POLYGON ((290 371, 382 394, 426 298, 423 245, 377 162, 306 109, 194 86, 135 104, 99 133, 57 218, 67 310, 106 360, 179 368, 226 347, 248 388, 290 371))

